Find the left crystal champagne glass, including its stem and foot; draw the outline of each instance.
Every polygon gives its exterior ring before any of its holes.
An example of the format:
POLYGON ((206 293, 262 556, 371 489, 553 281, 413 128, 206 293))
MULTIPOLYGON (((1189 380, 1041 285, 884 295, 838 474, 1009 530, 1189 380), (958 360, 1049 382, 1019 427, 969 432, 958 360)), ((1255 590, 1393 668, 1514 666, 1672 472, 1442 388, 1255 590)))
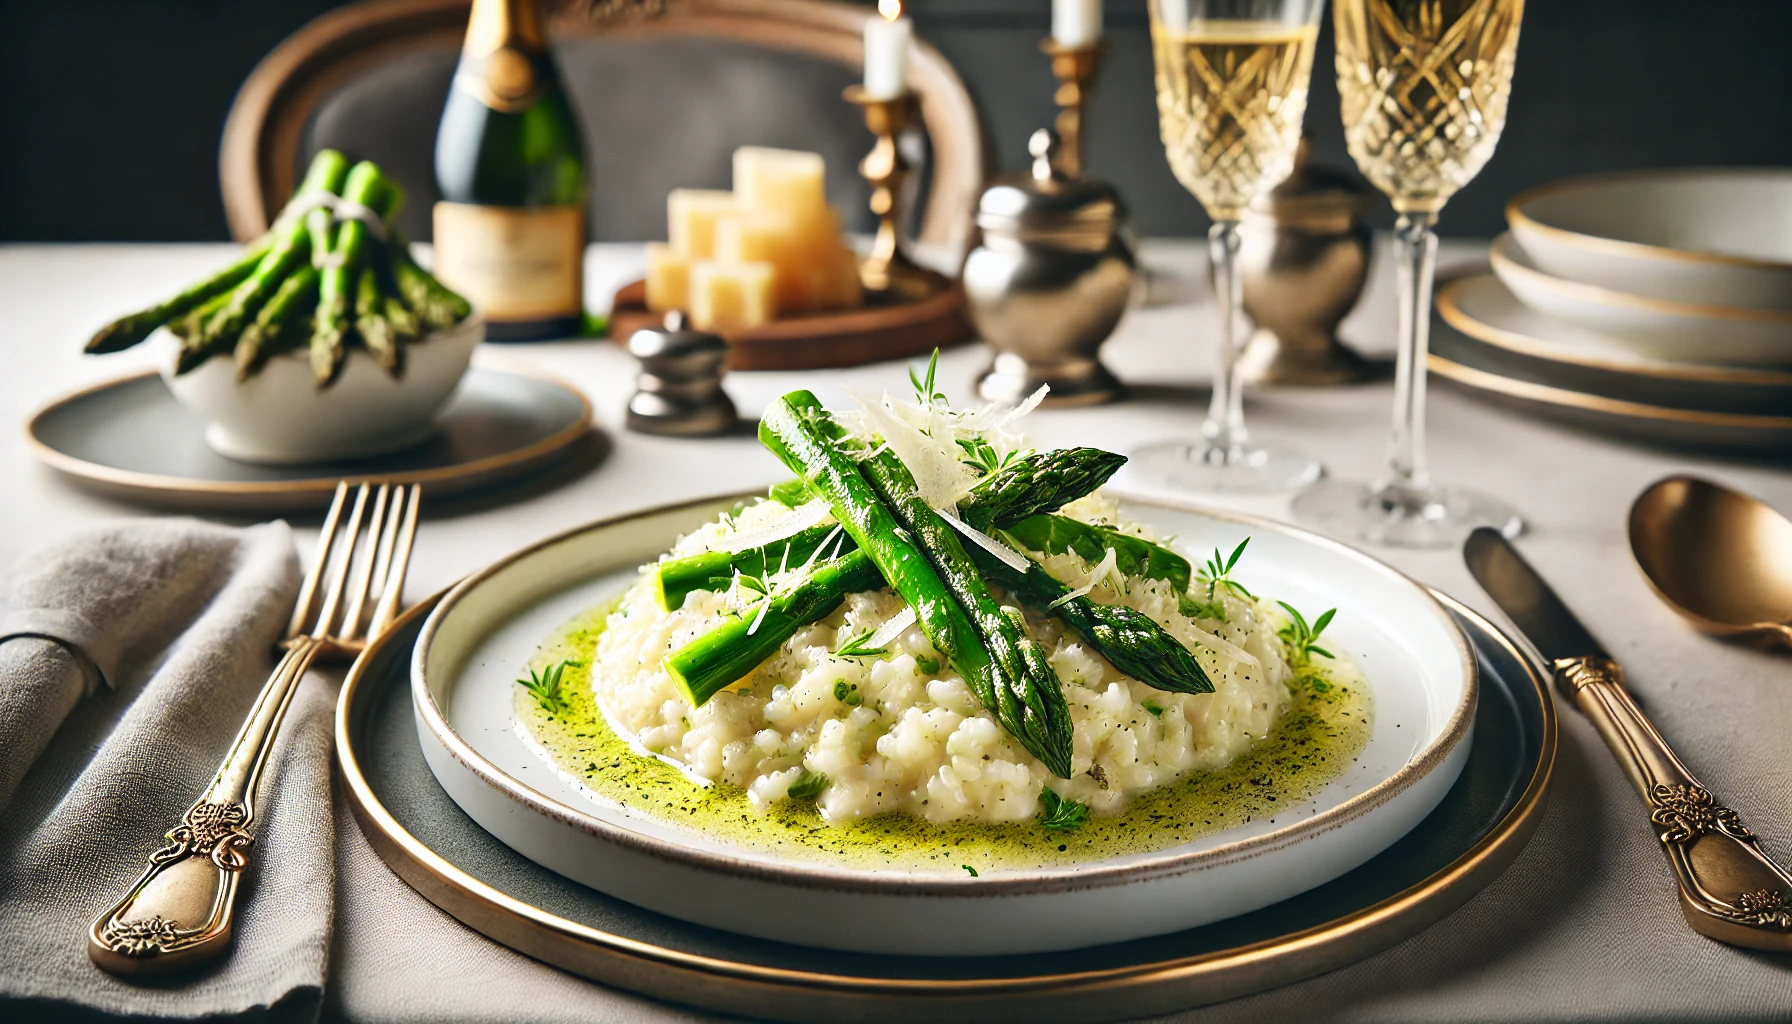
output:
POLYGON ((1193 491, 1283 491, 1319 463, 1251 443, 1236 371, 1238 217, 1294 170, 1322 0, 1150 0, 1158 124, 1170 170, 1213 219, 1220 359, 1199 441, 1134 454, 1134 472, 1193 491))

